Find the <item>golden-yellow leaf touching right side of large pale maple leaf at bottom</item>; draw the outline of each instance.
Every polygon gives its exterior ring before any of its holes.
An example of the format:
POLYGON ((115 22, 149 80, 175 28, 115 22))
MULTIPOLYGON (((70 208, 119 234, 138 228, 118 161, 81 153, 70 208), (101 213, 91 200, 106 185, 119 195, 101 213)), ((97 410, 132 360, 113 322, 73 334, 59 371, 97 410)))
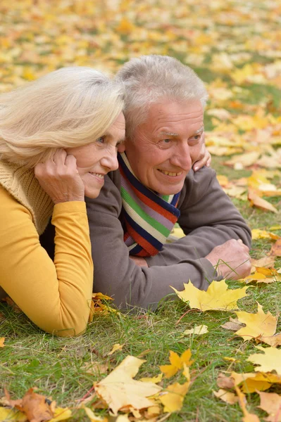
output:
POLYGON ((159 400, 164 406, 164 411, 172 412, 182 409, 182 403, 188 390, 188 381, 184 384, 174 383, 168 385, 166 390, 163 391, 159 397, 159 400))

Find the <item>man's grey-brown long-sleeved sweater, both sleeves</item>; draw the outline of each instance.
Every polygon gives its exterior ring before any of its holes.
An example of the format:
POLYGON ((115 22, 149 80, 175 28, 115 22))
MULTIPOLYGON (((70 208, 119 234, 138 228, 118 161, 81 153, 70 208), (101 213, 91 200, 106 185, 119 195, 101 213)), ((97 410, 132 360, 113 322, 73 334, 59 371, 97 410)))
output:
POLYGON ((178 223, 187 236, 163 246, 154 257, 146 258, 149 268, 130 260, 123 241, 120 173, 111 172, 96 199, 86 198, 94 260, 94 291, 111 295, 120 307, 155 307, 170 286, 183 289, 189 279, 206 290, 218 279, 211 262, 211 250, 231 238, 250 246, 251 231, 239 211, 223 192, 216 173, 204 167, 190 171, 180 195, 178 223))

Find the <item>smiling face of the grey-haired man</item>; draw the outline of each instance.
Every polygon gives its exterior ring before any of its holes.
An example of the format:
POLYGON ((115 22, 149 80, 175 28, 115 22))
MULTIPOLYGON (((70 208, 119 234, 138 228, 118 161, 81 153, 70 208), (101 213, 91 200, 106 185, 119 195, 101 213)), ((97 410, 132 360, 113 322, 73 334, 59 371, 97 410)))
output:
POLYGON ((127 158, 139 181, 162 195, 179 192, 196 161, 204 132, 199 100, 163 101, 149 108, 146 121, 125 141, 127 158))

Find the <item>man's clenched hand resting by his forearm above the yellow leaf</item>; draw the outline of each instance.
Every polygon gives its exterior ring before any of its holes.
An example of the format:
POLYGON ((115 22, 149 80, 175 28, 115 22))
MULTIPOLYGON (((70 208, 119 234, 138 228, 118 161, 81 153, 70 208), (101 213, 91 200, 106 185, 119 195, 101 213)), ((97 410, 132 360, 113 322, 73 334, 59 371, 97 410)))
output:
POLYGON ((240 239, 239 241, 231 239, 223 245, 216 246, 206 259, 224 279, 244 279, 251 272, 249 248, 240 239))

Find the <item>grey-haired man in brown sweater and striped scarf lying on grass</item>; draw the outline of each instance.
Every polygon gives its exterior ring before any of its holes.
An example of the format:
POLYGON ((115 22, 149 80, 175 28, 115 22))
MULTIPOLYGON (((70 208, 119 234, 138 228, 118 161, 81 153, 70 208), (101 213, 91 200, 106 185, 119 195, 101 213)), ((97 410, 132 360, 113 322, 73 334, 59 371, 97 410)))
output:
POLYGON ((118 72, 126 87, 125 152, 87 198, 94 291, 149 307, 190 281, 249 274, 251 231, 213 170, 192 170, 204 137, 206 89, 187 66, 142 56, 118 72), (185 237, 166 240, 175 222, 185 237))

